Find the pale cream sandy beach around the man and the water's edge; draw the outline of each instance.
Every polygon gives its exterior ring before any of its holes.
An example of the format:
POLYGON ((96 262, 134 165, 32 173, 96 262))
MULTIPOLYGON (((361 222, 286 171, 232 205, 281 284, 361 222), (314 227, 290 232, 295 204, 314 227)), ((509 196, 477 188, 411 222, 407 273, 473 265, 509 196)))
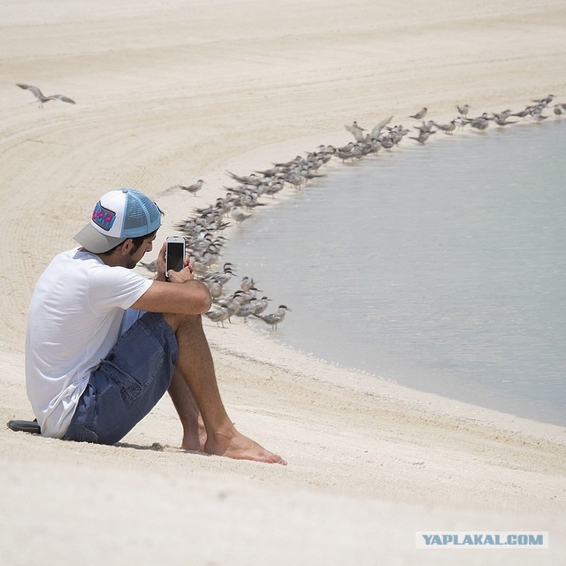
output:
MULTIPOLYGON (((2 11, 0 424, 33 418, 34 283, 107 190, 154 197, 164 239, 225 195, 226 170, 345 144, 353 120, 521 110, 551 93, 566 103, 555 2, 5 0, 2 11), (39 109, 17 82, 76 104, 39 109), (167 190, 197 179, 195 196, 167 190)), ((228 412, 288 465, 180 450, 167 396, 114 447, 2 425, 0 563, 566 564, 562 427, 339 369, 240 321, 205 324, 228 412), (417 532, 548 532, 549 547, 417 549, 417 532)))

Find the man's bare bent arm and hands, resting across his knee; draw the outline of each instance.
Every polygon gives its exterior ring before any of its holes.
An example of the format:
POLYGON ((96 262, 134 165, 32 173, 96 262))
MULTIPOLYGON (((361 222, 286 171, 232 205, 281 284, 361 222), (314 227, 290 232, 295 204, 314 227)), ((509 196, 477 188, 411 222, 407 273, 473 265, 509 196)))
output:
POLYGON ((202 315, 210 310, 210 291, 203 283, 194 279, 192 266, 187 262, 187 266, 180 272, 170 270, 170 281, 167 282, 164 258, 165 245, 157 256, 157 279, 132 307, 149 312, 182 315, 202 315))

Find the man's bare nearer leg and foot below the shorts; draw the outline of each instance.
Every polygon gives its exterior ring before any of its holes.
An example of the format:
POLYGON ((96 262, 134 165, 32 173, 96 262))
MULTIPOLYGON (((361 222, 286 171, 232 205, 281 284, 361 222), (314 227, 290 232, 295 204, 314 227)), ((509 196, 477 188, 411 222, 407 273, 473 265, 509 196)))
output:
MULTIPOLYGON (((204 452, 236 459, 285 464, 285 460, 279 455, 272 454, 238 432, 228 417, 218 391, 214 363, 201 317, 165 314, 164 319, 172 327, 179 344, 176 370, 185 380, 203 417, 206 429, 204 452)), ((177 383, 170 388, 170 393, 175 407, 189 412, 193 410, 193 414, 181 417, 181 421, 185 419, 187 423, 191 420, 194 422, 194 409, 189 408, 187 397, 182 397, 182 387, 177 383), (179 394, 181 396, 175 399, 174 396, 179 394)))

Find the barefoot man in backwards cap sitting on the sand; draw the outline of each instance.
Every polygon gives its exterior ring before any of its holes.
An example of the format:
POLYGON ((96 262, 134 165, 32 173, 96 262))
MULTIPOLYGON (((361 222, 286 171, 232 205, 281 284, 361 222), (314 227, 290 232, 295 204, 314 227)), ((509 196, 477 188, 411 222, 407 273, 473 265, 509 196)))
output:
POLYGON ((165 391, 183 427, 181 447, 285 463, 238 432, 218 392, 201 315, 208 288, 185 262, 165 280, 133 271, 153 247, 161 210, 130 188, 106 193, 37 282, 27 317, 27 394, 51 438, 115 444, 165 391))

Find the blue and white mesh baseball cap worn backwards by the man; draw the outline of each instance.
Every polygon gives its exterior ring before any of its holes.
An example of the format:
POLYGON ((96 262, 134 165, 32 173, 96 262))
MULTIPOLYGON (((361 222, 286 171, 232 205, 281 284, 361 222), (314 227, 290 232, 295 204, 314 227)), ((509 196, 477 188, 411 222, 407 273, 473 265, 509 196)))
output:
POLYGON ((155 232, 161 226, 161 210, 134 188, 119 188, 100 197, 87 226, 74 236, 84 249, 102 254, 128 238, 155 232))

